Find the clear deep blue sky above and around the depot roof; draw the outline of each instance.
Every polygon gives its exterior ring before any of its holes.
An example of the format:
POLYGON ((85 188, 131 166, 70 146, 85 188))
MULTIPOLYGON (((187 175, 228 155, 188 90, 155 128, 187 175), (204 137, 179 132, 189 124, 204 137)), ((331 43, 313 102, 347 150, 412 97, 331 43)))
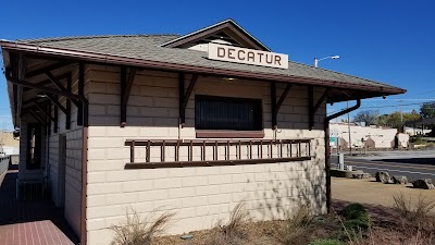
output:
MULTIPOLYGON (((408 90, 364 100, 361 110, 419 109, 435 100, 435 2, 432 0, 307 1, 12 1, 2 0, 1 39, 104 35, 186 34, 234 19, 273 51, 319 66, 408 90)), ((0 128, 12 128, 4 76, 0 128)), ((334 105, 328 112, 340 110, 334 105)))

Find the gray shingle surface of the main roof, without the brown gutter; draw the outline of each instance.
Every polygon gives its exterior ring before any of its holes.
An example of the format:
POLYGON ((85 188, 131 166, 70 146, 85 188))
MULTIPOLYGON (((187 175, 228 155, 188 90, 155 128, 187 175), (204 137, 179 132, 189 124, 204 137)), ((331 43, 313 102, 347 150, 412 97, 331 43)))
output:
POLYGON ((207 52, 203 51, 160 47, 160 45, 178 37, 179 35, 111 35, 29 39, 20 40, 20 42, 32 44, 42 47, 114 54, 119 57, 142 59, 164 63, 187 64, 194 66, 231 71, 264 73, 282 76, 296 76, 357 85, 396 88, 394 86, 389 86, 383 83, 350 76, 320 68, 313 68, 311 65, 306 65, 293 61, 289 61, 288 70, 283 70, 209 60, 207 52))

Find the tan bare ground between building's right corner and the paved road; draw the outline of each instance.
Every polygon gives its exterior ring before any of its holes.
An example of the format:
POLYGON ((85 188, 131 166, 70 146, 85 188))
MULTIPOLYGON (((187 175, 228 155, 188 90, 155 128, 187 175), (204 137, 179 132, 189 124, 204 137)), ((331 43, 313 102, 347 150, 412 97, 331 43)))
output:
POLYGON ((366 180, 332 177, 331 182, 332 197, 335 200, 393 207, 393 196, 400 193, 411 199, 419 198, 419 195, 435 199, 435 189, 415 189, 412 188, 412 184, 382 184, 374 177, 366 180))

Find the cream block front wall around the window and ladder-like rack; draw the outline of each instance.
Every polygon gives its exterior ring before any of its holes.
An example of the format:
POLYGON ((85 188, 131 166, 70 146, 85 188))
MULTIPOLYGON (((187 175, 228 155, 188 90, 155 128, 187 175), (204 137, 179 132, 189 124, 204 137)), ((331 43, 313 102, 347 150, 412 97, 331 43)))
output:
MULTIPOLYGON (((121 128, 119 69, 92 65, 88 75, 94 108, 88 145, 89 244, 110 243, 113 233, 108 228, 119 222, 129 207, 142 215, 153 209, 176 211, 170 233, 210 228, 219 219, 226 219, 240 200, 247 201, 251 217, 257 220, 284 218, 295 206, 307 201, 316 211, 325 211, 322 130, 325 105, 315 117, 314 130, 308 131, 306 87, 291 88, 278 114, 279 128, 274 132, 269 83, 227 83, 200 76, 187 103, 186 126, 178 130, 177 74, 141 71, 135 77, 128 100, 127 126, 121 128), (129 161, 125 139, 195 138, 196 94, 262 99, 265 139, 273 138, 274 134, 285 139, 314 138, 313 159, 254 166, 125 170, 129 161)), ((278 96, 284 87, 278 85, 278 96)), ((323 90, 315 91, 319 98, 323 90)), ((137 150, 136 155, 144 159, 145 149, 137 150)))

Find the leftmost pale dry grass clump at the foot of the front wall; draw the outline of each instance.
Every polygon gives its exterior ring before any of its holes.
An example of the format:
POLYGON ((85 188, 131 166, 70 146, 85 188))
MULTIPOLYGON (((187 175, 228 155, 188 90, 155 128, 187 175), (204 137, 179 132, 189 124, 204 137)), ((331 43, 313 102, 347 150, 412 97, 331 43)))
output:
POLYGON ((150 245, 151 241, 163 234, 166 230, 174 212, 164 212, 157 216, 157 211, 152 211, 145 219, 141 219, 136 210, 130 208, 126 210, 125 220, 119 225, 112 225, 110 229, 115 235, 112 245, 150 245))

